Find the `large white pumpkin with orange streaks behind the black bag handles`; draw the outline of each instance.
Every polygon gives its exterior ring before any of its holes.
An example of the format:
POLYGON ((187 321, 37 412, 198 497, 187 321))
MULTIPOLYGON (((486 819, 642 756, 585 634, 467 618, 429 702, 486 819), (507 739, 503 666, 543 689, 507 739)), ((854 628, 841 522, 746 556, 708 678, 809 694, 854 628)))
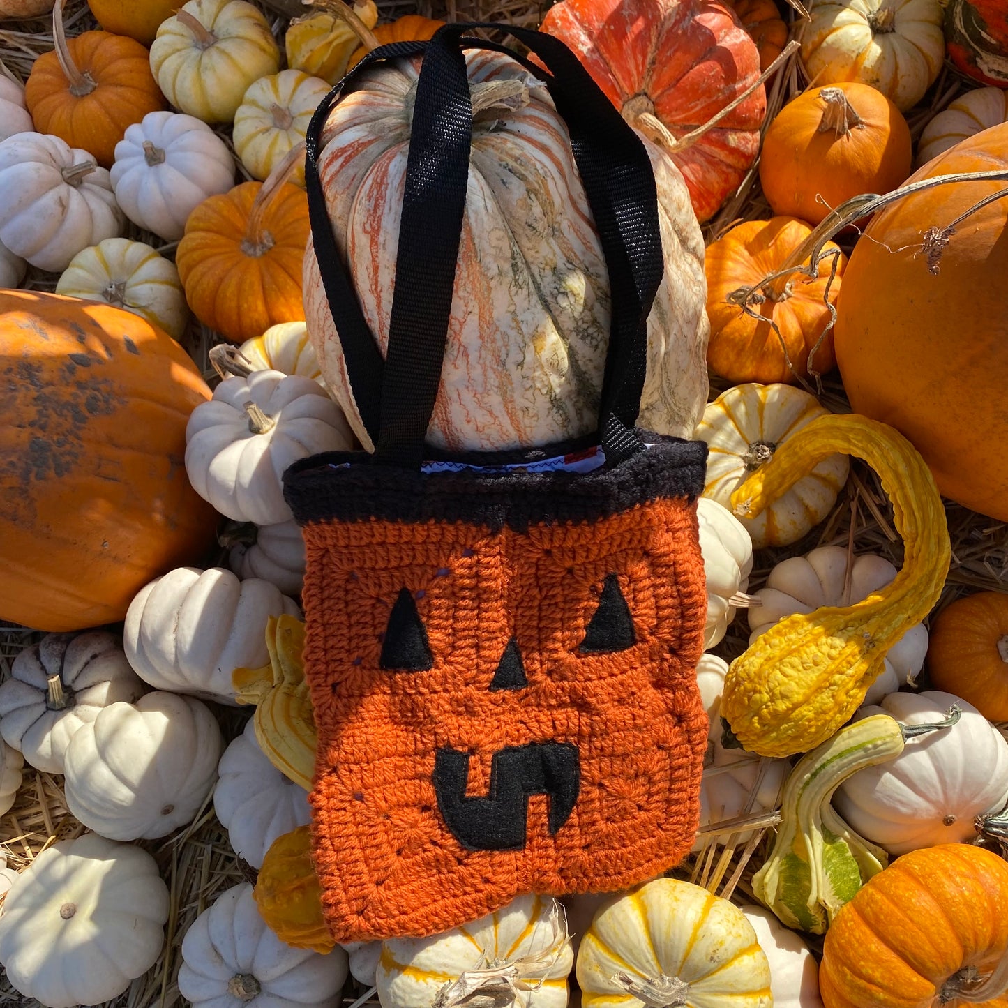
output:
MULTIPOLYGON (((608 271, 566 127, 545 86, 510 57, 469 52, 473 152, 442 389, 428 440, 503 450, 596 426, 609 338, 608 271)), ((418 59, 375 68, 336 106, 320 175, 365 319, 384 351, 418 59)), ((665 276, 648 322, 640 423, 689 436, 707 399, 704 247, 679 170, 649 147, 665 276)), ((308 335, 327 386, 371 442, 310 246, 308 335)))

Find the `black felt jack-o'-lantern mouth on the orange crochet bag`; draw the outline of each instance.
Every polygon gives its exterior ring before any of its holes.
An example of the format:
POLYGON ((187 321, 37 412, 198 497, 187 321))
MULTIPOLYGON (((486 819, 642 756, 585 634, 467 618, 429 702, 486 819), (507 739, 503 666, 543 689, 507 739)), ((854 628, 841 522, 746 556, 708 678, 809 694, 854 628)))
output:
POLYGON ((486 797, 466 794, 468 752, 438 749, 433 784, 449 830, 470 851, 515 851, 525 846, 528 797, 549 797, 549 834, 571 817, 581 787, 581 758, 570 742, 528 742, 494 753, 486 797))

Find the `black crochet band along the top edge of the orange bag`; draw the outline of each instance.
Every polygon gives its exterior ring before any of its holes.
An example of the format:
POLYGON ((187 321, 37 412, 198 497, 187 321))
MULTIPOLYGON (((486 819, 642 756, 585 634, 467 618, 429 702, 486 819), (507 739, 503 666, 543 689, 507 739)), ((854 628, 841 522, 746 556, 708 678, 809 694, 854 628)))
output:
POLYGON ((369 465, 364 452, 303 459, 283 476, 298 524, 317 521, 465 522, 490 529, 597 521, 638 504, 704 490, 707 445, 641 431, 651 448, 591 473, 416 473, 369 465), (345 463, 344 468, 333 468, 345 463))

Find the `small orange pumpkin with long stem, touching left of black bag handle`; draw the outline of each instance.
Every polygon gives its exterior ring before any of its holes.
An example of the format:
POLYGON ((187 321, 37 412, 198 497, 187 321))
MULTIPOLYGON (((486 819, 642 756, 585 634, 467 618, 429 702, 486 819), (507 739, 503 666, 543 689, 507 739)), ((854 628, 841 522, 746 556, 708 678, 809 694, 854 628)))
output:
POLYGON ((308 201, 286 181, 298 144, 264 182, 204 200, 185 222, 175 265, 193 313, 232 343, 282 322, 303 322, 301 265, 308 201))

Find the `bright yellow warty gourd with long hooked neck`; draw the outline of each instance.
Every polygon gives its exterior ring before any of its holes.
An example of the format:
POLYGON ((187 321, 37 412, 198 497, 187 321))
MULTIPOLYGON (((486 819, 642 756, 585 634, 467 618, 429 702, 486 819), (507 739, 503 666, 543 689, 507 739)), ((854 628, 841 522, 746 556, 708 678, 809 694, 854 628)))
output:
POLYGON ((930 471, 897 430, 857 414, 821 416, 783 443, 732 494, 736 515, 759 514, 838 452, 881 477, 903 537, 903 568, 853 606, 781 620, 732 662, 721 715, 743 748, 761 756, 807 752, 849 721, 886 652, 927 615, 949 572, 949 529, 930 471))

